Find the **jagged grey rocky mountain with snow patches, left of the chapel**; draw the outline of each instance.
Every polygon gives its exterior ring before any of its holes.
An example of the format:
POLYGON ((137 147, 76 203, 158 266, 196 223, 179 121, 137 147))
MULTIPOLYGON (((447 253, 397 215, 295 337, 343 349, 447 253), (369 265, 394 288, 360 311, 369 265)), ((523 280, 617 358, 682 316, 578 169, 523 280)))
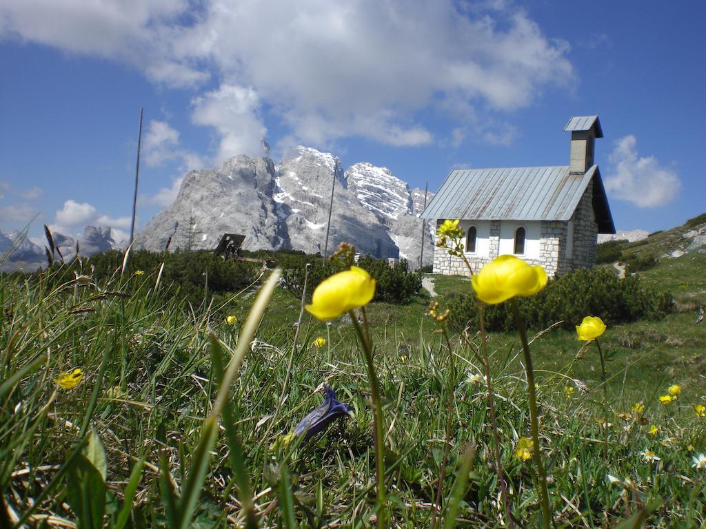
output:
MULTIPOLYGON (((431 199, 433 193, 429 193, 431 199)), ((293 248, 331 253, 352 243, 375 257, 419 265, 424 192, 385 167, 361 162, 344 171, 329 152, 299 146, 275 165, 244 155, 220 168, 184 176, 174 203, 148 222, 137 248, 215 248, 223 233, 242 233, 247 250, 293 248), (333 187, 328 249, 325 235, 333 187)), ((424 262, 433 259, 433 229, 424 233, 424 262)))

